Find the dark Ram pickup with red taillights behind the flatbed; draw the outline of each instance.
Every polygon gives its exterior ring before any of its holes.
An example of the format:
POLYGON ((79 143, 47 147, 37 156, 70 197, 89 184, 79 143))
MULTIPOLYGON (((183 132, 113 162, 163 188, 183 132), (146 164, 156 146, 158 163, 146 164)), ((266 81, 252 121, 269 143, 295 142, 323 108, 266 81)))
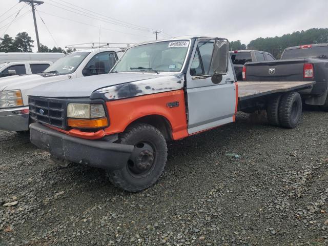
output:
POLYGON ((328 44, 286 48, 280 60, 245 63, 242 74, 243 81, 315 81, 302 99, 328 110, 328 44))

